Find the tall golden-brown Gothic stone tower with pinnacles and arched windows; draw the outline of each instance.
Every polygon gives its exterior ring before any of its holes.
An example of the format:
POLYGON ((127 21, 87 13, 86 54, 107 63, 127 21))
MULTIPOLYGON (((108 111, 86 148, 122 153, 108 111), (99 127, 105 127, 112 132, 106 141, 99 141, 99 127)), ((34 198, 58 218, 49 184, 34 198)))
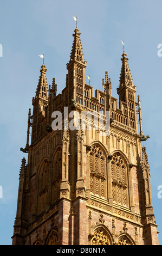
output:
POLYGON ((21 148, 28 159, 22 159, 12 245, 158 245, 150 168, 141 146, 149 136, 142 132, 127 55, 121 58, 119 100, 107 71, 94 95, 85 83, 79 29, 73 36, 61 94, 55 78, 48 87, 41 66, 21 148), (95 112, 103 124, 108 112, 109 133, 103 136, 90 114, 82 115, 85 129, 80 123, 74 129, 74 112, 95 112))

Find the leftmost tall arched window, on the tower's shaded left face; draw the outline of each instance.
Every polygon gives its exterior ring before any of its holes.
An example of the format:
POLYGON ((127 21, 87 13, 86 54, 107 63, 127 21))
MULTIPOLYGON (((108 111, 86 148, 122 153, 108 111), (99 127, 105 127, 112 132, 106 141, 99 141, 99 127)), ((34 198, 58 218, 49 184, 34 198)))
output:
POLYGON ((45 159, 43 161, 38 179, 38 214, 46 210, 48 194, 48 170, 49 162, 47 159, 45 159))

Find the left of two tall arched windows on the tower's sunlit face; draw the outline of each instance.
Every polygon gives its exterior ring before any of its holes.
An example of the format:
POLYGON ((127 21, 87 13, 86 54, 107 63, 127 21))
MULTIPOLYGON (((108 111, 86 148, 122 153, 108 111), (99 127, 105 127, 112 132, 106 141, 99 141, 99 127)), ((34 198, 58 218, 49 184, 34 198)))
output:
POLYGON ((93 145, 89 153, 90 192, 106 198, 106 159, 101 148, 93 145))

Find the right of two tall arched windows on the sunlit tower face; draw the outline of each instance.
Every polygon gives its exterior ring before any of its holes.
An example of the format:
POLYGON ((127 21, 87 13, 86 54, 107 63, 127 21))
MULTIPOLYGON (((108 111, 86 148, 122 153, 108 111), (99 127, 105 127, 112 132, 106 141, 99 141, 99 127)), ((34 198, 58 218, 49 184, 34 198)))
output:
POLYGON ((125 160, 119 153, 113 155, 111 161, 112 175, 112 197, 113 200, 125 206, 128 206, 128 177, 125 160))

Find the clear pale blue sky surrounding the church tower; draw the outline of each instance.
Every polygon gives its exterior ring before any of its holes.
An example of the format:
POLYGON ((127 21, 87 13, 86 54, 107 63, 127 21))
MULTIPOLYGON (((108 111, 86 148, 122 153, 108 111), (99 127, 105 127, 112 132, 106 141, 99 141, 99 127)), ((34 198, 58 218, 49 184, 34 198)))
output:
POLYGON ((66 83, 76 14, 87 60, 86 76, 90 74, 90 84, 102 90, 102 78, 108 71, 114 97, 118 97, 121 40, 125 42, 129 68, 141 98, 142 128, 145 135, 150 135, 142 145, 146 146, 150 163, 153 209, 162 245, 162 198, 157 196, 157 188, 162 185, 162 57, 157 54, 158 44, 162 43, 162 2, 0 0, 0 9, 0 245, 11 245, 21 159, 27 159, 20 148, 26 144, 28 109, 32 107, 42 65, 38 55, 44 52, 47 82, 51 84, 55 77, 57 93, 61 93, 66 83))

